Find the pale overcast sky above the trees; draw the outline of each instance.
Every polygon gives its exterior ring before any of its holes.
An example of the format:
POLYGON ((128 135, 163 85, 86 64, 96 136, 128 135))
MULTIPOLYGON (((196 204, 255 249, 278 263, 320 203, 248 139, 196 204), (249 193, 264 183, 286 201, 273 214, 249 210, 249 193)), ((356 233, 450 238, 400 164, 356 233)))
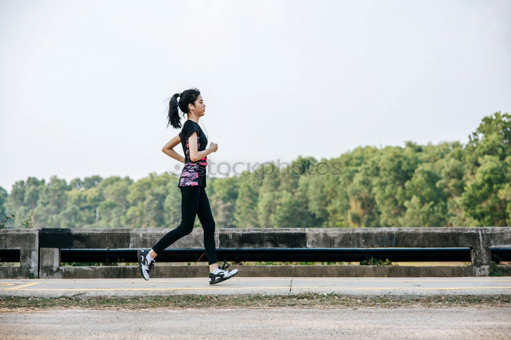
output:
POLYGON ((1 0, 0 186, 180 172, 167 99, 191 87, 214 163, 464 144, 511 113, 509 18, 511 1, 1 0))

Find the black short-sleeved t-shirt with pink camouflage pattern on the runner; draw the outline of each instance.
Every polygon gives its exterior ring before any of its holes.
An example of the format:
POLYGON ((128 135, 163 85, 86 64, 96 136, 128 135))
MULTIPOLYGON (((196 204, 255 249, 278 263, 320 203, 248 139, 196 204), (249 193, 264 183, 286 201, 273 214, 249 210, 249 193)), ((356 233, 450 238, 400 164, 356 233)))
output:
POLYGON ((179 138, 181 139, 181 145, 184 152, 184 167, 179 177, 178 187, 187 186, 206 186, 206 165, 207 157, 202 158, 197 162, 190 160, 190 147, 188 145, 188 138, 192 136, 194 131, 197 131, 197 151, 206 149, 207 138, 202 132, 199 124, 191 119, 184 122, 179 138))

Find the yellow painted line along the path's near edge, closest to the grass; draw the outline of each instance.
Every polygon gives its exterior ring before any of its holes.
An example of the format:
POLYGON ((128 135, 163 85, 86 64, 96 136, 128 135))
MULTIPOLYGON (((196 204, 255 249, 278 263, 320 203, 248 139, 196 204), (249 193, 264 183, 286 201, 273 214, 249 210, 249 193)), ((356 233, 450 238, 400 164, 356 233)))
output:
MULTIPOLYGON (((91 289, 20 289, 20 291, 196 291, 196 290, 232 290, 232 289, 289 289, 290 287, 204 287, 204 288, 91 288, 91 289)), ((6 288, 4 290, 14 290, 6 288)), ((450 287, 450 288, 427 288, 427 287, 292 287, 293 289, 359 289, 359 290, 398 290, 398 289, 423 289, 423 290, 462 290, 462 289, 511 289, 511 287, 450 287)))

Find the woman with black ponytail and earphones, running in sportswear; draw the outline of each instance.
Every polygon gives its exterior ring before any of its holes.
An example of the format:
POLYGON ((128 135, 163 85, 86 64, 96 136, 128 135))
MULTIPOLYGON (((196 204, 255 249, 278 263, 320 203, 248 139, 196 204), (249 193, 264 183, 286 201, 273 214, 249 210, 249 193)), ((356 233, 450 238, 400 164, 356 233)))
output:
POLYGON ((162 237, 150 251, 138 249, 138 269, 142 276, 149 280, 149 273, 154 267, 154 258, 165 248, 191 233, 195 215, 198 215, 204 230, 204 248, 210 265, 210 284, 215 284, 238 273, 238 269, 226 270, 230 265, 225 262, 221 268, 218 268, 215 249, 215 220, 206 195, 207 155, 216 152, 218 144, 212 142, 210 147, 206 148, 207 138, 199 126, 199 117, 204 116, 206 106, 199 90, 192 88, 172 96, 169 103, 167 127, 169 125, 174 128, 181 127, 178 108, 183 112, 183 117, 184 113, 187 114, 187 120, 184 122, 181 132, 171 139, 162 151, 173 159, 184 163, 178 184, 181 190, 181 223, 162 237), (179 101, 177 97, 180 98, 179 101), (184 158, 174 150, 179 143, 183 147, 184 158))

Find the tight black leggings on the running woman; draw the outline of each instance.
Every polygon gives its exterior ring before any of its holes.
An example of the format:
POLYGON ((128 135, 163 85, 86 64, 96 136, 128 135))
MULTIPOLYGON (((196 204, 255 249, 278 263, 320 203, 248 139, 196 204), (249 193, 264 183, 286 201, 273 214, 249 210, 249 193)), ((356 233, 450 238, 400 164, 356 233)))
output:
POLYGON ((207 199, 206 188, 200 186, 179 187, 181 190, 181 224, 164 237, 152 248, 156 254, 160 254, 168 246, 188 235, 193 230, 195 215, 199 216, 202 229, 204 230, 204 248, 208 263, 217 263, 217 251, 215 249, 215 220, 211 213, 210 200, 207 199))

